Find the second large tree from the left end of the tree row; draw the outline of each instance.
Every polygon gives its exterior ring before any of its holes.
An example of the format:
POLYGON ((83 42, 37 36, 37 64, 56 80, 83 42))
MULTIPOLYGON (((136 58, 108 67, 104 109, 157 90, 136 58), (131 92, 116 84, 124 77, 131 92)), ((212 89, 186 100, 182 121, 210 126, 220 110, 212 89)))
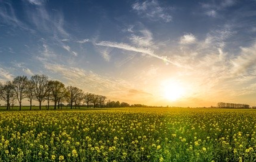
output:
POLYGON ((21 101, 22 99, 26 98, 26 88, 28 85, 28 78, 27 76, 17 76, 13 79, 12 82, 14 86, 14 92, 16 94, 16 98, 20 103, 20 110, 21 110, 21 101))

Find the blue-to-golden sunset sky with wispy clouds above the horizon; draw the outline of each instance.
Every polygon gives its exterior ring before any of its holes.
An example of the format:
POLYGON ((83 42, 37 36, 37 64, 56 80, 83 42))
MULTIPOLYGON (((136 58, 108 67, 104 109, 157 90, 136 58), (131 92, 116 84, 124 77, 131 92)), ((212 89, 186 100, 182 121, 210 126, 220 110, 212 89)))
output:
POLYGON ((110 100, 256 105, 256 0, 0 0, 0 82, 110 100))

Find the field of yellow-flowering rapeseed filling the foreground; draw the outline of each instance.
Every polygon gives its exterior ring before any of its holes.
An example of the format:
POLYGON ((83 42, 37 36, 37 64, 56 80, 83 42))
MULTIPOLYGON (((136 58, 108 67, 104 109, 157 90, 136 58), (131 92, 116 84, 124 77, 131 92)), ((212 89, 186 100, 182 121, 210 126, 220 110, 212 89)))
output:
POLYGON ((256 110, 0 112, 0 161, 256 161, 256 110))

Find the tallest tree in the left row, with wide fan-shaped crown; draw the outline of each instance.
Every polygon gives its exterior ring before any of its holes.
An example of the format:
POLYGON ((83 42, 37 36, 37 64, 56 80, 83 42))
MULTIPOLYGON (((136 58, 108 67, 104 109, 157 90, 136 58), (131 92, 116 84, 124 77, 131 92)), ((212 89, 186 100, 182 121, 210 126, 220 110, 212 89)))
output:
POLYGON ((42 102, 45 101, 47 95, 48 77, 46 75, 33 75, 31 82, 34 86, 34 97, 39 102, 39 109, 41 110, 42 102))

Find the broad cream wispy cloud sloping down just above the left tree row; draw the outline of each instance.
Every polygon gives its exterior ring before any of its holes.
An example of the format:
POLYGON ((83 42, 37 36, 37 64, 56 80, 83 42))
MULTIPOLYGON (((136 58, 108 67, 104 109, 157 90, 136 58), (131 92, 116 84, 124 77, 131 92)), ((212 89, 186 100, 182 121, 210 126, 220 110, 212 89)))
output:
MULTIPOLYGON (((101 76, 92 71, 61 64, 44 62, 44 66, 56 77, 61 77, 65 84, 77 86, 85 92, 107 95, 108 92, 130 89, 132 85, 122 79, 101 76), (61 75, 60 75, 61 74, 61 75)), ((55 78, 56 78, 55 77, 55 78)))

